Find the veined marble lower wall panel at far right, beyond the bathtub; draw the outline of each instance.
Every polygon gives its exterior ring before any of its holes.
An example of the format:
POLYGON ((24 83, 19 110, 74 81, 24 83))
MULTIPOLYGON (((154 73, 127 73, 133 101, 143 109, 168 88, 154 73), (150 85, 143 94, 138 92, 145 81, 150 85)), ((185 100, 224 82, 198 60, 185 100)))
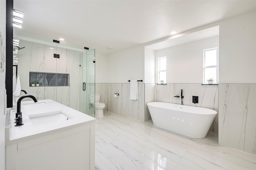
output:
POLYGON ((219 84, 219 144, 256 154, 256 84, 219 84))

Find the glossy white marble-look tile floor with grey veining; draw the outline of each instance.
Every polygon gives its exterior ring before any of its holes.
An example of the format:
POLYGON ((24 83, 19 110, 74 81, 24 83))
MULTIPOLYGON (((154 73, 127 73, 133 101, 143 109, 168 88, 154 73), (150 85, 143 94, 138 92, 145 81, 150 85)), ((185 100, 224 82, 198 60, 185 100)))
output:
POLYGON ((96 125, 96 170, 256 170, 256 155, 191 139, 114 113, 96 125))

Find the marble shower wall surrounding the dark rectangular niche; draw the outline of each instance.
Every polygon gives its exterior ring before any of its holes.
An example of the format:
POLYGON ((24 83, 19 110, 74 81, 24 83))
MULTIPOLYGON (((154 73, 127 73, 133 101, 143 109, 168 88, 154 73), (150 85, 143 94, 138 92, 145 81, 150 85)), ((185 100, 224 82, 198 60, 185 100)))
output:
POLYGON ((52 99, 79 110, 79 57, 81 52, 56 46, 20 40, 18 51, 18 75, 21 88, 39 100, 52 99), (54 48, 54 49, 50 49, 54 48), (60 54, 60 59, 53 57, 60 54), (29 87, 29 72, 52 72, 70 74, 70 86, 29 87))

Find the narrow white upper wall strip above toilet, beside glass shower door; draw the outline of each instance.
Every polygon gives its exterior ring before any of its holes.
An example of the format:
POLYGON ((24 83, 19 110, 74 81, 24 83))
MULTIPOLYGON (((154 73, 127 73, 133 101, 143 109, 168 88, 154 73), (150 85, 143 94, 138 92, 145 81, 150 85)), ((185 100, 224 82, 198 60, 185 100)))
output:
POLYGON ((95 83, 108 82, 108 58, 106 55, 95 53, 95 83))

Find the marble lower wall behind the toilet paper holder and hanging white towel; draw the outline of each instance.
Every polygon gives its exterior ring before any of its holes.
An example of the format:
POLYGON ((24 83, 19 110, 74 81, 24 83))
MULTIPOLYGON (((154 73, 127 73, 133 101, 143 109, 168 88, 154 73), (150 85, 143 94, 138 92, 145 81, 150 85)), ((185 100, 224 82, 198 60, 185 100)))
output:
POLYGON ((138 100, 130 100, 129 83, 96 83, 95 93, 101 94, 100 102, 106 104, 105 111, 110 111, 144 122, 144 83, 139 83, 138 88, 138 100), (114 98, 114 93, 119 93, 119 97, 114 98))

